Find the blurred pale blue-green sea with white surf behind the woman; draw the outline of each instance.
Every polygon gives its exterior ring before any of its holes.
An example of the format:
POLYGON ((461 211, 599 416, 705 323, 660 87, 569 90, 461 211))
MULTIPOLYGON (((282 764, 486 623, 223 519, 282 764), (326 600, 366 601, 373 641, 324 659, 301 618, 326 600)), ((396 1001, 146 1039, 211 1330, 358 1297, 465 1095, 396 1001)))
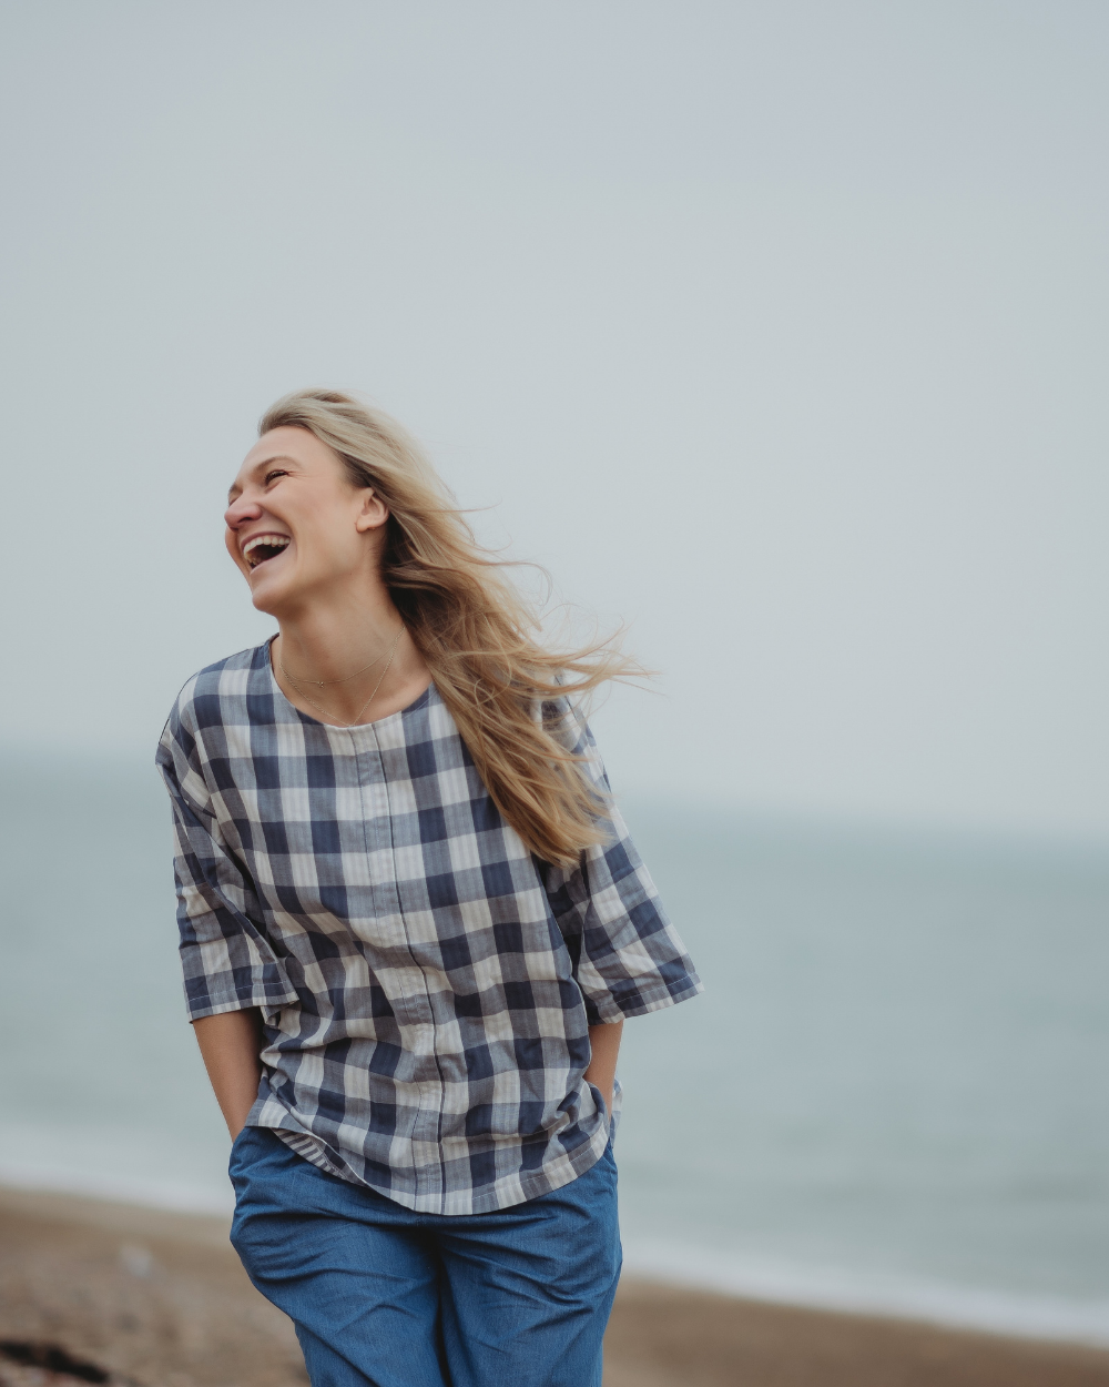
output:
MULTIPOLYGON (((152 766, 0 768, 0 1182, 227 1209, 152 766)), ((1109 1345, 1109 846, 622 807, 707 986, 625 1028, 625 1265, 1109 1345)))

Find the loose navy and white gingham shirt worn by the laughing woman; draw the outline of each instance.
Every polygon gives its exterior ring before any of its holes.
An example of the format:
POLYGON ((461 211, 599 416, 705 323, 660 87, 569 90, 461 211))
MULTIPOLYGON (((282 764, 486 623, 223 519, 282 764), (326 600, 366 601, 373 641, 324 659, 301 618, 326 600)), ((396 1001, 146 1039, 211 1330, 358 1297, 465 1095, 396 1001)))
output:
POLYGON ((618 814, 577 870, 539 863, 434 685, 329 727, 281 694, 268 645, 186 684, 158 766, 189 1015, 262 1010, 251 1125, 433 1214, 506 1208, 600 1158, 588 1026, 701 990, 618 814))

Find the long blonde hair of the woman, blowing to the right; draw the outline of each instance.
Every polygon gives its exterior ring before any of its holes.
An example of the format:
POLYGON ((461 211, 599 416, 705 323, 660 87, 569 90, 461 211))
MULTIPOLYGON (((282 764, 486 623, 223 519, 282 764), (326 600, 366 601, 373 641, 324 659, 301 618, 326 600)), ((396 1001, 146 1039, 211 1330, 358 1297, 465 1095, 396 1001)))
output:
POLYGON ((639 667, 611 641, 571 651, 541 644, 538 613, 506 580, 505 562, 478 544, 419 445, 388 415, 338 391, 298 390, 266 411, 258 433, 281 427, 315 434, 355 485, 385 502, 381 577, 478 775, 531 852, 577 863, 603 838, 604 798, 573 752, 564 700, 639 667))

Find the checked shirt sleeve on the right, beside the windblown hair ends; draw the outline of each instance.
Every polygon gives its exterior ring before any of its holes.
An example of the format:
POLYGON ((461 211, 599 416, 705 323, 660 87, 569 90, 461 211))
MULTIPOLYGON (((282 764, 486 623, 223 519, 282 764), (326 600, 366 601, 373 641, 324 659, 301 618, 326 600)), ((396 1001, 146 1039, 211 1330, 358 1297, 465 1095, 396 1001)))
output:
MULTIPOLYGON (((599 820, 606 841, 586 847, 573 868, 545 864, 545 886, 559 929, 575 961, 589 1025, 622 1021, 695 997, 704 985, 628 828, 611 803, 592 732, 568 705, 556 734, 606 798, 599 820)), ((545 709, 549 717, 548 709, 545 709)))

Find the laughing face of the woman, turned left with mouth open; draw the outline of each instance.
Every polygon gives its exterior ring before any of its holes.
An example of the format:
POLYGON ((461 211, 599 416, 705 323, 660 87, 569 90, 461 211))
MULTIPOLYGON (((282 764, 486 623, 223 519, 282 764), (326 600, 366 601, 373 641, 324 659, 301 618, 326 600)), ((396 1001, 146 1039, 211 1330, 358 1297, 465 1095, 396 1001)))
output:
POLYGON ((294 616, 377 573, 388 509, 355 487, 306 429, 273 429, 247 454, 229 492, 227 552, 259 612, 294 616))

